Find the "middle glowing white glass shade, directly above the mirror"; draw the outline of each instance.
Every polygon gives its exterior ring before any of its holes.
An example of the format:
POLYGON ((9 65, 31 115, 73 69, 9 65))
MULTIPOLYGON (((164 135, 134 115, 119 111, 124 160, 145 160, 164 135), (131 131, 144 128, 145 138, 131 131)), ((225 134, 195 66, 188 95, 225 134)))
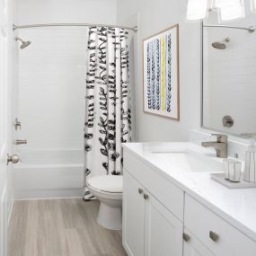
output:
MULTIPOLYGON (((228 0, 226 0, 227 2, 228 0)), ((220 7, 219 18, 220 22, 228 22, 244 17, 244 6, 242 1, 229 1, 230 4, 225 4, 220 7)))

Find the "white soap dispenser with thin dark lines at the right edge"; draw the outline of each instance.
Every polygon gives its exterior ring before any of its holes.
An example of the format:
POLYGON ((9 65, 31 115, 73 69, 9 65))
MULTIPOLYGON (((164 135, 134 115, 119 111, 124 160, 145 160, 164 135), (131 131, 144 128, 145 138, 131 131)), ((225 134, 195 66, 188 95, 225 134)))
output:
POLYGON ((256 182, 256 146, 255 137, 251 138, 251 146, 245 153, 245 168, 243 180, 247 182, 256 182))

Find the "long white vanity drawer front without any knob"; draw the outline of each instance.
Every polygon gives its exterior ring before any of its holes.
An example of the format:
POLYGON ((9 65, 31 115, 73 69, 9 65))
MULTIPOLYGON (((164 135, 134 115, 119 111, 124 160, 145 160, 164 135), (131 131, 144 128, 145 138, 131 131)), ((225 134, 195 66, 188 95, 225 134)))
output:
POLYGON ((124 169, 183 223, 183 190, 127 150, 124 150, 124 169))

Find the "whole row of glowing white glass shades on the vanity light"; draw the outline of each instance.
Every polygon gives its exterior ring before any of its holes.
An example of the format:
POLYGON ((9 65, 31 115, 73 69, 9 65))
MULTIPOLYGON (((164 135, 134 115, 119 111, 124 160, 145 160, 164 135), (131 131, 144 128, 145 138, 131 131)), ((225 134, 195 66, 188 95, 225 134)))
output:
MULTIPOLYGON (((256 0, 252 0, 256 12, 256 0)), ((200 21, 210 10, 217 11, 219 22, 229 22, 244 17, 243 0, 188 0, 187 20, 200 21)))

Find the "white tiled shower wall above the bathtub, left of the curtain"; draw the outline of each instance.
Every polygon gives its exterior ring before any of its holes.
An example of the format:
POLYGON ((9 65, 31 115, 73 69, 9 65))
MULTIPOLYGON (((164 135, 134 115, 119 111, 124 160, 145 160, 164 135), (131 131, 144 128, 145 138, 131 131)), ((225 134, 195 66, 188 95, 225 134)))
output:
POLYGON ((31 29, 20 51, 19 117, 32 147, 83 146, 86 29, 31 29))

